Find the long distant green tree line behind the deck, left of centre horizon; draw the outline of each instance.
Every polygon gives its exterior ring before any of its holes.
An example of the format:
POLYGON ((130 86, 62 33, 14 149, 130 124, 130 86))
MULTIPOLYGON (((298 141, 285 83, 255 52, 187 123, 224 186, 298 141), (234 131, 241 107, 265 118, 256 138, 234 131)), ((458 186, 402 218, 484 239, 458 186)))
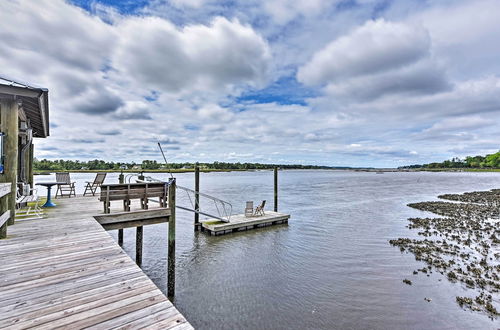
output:
MULTIPOLYGON (((202 169, 213 170, 261 170, 272 169, 276 166, 283 169, 331 169, 329 166, 316 165, 282 165, 282 164, 260 164, 260 163, 169 163, 168 165, 158 163, 156 160, 143 160, 142 163, 106 162, 104 160, 48 160, 34 159, 33 169, 35 171, 75 171, 75 170, 168 170, 168 169, 192 169, 199 166, 202 169)), ((336 167, 337 168, 337 167, 336 167)))

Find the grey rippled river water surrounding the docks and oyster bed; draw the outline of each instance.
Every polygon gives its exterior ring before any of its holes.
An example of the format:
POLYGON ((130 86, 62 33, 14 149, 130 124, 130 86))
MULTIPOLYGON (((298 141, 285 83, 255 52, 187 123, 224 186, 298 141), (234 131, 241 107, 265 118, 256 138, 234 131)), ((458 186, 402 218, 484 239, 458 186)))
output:
MULTIPOLYGON (((78 192, 93 176, 72 174, 78 192)), ((192 173, 176 177, 193 186, 192 173)), ((269 171, 202 173, 201 191, 242 213, 246 200, 272 207, 272 182, 269 171)), ((282 171, 288 225, 211 237, 193 232, 192 213, 177 212, 175 305, 199 329, 496 329, 498 320, 457 306, 455 296, 472 291, 440 274, 411 275, 424 263, 388 240, 417 236, 406 219, 426 214, 407 203, 499 187, 495 173, 282 171)), ((166 224, 144 228, 143 269, 164 292, 166 234, 166 224)), ((134 230, 124 248, 135 255, 134 230)))

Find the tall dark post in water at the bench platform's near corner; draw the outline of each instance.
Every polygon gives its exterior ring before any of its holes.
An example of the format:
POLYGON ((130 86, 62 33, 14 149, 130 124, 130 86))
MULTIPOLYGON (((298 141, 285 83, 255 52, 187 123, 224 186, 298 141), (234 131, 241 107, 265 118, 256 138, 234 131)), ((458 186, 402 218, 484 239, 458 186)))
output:
POLYGON ((167 265, 167 297, 173 300, 175 295, 175 178, 168 183, 168 265, 167 265))

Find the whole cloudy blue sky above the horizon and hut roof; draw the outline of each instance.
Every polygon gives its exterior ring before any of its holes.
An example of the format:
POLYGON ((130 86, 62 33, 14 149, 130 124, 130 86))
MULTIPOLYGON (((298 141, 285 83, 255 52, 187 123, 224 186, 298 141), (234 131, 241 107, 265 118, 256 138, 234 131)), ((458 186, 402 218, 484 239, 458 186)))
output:
POLYGON ((397 167, 497 152, 500 0, 3 0, 48 159, 397 167))

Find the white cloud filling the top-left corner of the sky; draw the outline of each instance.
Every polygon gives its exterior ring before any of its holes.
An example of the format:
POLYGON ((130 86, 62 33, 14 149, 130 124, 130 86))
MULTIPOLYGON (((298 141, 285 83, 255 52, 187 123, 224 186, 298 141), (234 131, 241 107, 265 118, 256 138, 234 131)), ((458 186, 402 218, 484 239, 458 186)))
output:
POLYGON ((38 72, 54 58, 75 69, 99 69, 113 47, 110 26, 60 1, 2 1, 0 13, 0 55, 23 56, 26 65, 28 57, 37 58, 38 72))

